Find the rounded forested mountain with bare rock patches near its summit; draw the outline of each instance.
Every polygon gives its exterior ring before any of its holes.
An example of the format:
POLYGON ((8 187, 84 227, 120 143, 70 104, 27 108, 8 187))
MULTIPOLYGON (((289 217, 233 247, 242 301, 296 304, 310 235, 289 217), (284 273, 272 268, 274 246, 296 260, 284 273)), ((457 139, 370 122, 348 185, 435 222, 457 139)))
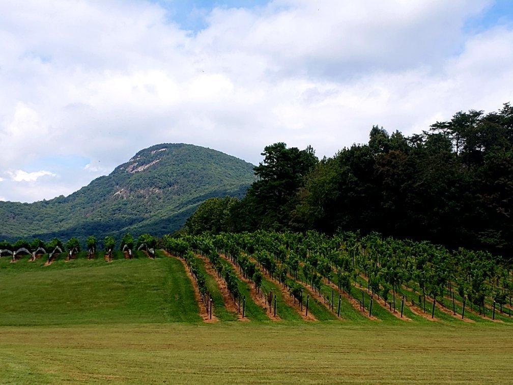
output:
POLYGON ((0 239, 163 235, 208 198, 243 196, 254 178, 252 164, 223 152, 158 144, 68 197, 0 202, 0 239))

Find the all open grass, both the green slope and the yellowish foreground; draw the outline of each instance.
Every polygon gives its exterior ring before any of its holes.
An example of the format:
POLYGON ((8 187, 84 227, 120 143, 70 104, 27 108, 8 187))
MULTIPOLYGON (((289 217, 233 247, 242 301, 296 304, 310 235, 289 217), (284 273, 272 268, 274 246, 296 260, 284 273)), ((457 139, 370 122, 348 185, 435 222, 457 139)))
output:
POLYGON ((349 308, 345 320, 336 320, 322 303, 312 312, 329 317, 315 322, 280 303, 283 320, 276 322, 250 301, 245 284, 250 322, 240 322, 208 277, 220 322, 203 323, 183 264, 162 253, 155 260, 120 253, 110 263, 101 255, 44 262, 0 259, 0 383, 513 378, 505 322, 404 322, 379 307, 378 321, 351 317, 349 308))

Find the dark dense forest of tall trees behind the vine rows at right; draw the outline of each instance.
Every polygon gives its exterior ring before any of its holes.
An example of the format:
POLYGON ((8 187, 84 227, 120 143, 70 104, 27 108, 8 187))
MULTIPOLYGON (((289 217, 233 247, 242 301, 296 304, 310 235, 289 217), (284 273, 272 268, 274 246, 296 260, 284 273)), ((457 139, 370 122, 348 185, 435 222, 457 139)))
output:
POLYGON ((267 146, 242 200, 214 198, 187 220, 199 234, 257 229, 356 231, 507 255, 513 249, 513 107, 470 110, 405 137, 372 127, 367 144, 319 160, 267 146))

